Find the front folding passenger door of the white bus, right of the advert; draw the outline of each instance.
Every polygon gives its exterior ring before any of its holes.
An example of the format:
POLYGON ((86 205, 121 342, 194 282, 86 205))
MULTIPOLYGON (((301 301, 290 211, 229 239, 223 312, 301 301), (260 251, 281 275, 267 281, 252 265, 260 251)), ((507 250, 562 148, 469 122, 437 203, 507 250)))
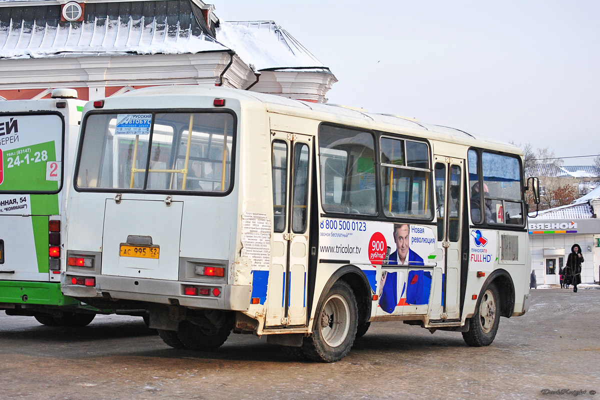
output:
POLYGON ((437 233, 443 247, 442 319, 460 318, 461 231, 464 160, 436 155, 437 233), (441 185, 440 185, 441 184, 441 185))

